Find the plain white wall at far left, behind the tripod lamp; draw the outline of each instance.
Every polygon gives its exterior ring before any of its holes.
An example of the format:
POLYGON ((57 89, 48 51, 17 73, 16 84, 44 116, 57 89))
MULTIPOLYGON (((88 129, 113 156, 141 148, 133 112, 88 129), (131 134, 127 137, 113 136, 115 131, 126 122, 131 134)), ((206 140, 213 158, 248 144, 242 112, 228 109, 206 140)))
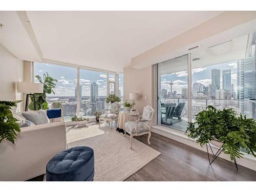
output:
MULTIPOLYGON (((16 93, 16 81, 23 81, 23 66, 22 60, 0 44, 0 100, 23 100, 23 94, 16 93)), ((22 111, 20 103, 17 111, 22 111)))

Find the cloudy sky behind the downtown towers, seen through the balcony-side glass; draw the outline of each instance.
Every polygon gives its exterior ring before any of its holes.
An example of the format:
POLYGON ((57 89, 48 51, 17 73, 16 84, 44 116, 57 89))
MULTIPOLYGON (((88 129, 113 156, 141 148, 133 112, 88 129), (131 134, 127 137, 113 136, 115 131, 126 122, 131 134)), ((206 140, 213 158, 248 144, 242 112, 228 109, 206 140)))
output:
MULTIPOLYGON (((160 67, 160 66, 159 66, 160 67)), ((217 65, 196 68, 192 70, 192 84, 199 82, 208 86, 211 83, 211 70, 221 70, 221 88, 222 88, 222 70, 231 70, 231 84, 234 84, 234 90, 237 90, 237 62, 225 62, 217 65)), ((177 91, 177 94, 181 94, 182 88, 187 88, 187 71, 180 71, 171 74, 161 75, 161 89, 167 89, 170 91, 170 81, 174 83, 173 91, 177 91)))

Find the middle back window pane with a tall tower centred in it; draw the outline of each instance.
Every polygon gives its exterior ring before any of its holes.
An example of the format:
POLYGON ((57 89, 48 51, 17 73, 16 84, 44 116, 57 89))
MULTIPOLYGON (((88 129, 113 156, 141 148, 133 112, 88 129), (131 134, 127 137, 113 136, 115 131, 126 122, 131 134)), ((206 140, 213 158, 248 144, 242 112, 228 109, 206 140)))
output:
POLYGON ((80 69, 80 116, 105 109, 106 73, 80 69))

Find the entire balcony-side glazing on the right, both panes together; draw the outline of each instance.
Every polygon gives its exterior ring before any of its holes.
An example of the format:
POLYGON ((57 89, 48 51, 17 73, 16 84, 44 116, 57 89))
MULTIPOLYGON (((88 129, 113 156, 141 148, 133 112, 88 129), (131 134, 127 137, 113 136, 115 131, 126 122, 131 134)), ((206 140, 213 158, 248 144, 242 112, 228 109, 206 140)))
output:
POLYGON ((158 63, 158 124, 185 131, 188 117, 194 121, 208 105, 256 119, 255 40, 250 33, 202 45, 188 61, 185 55, 158 63))

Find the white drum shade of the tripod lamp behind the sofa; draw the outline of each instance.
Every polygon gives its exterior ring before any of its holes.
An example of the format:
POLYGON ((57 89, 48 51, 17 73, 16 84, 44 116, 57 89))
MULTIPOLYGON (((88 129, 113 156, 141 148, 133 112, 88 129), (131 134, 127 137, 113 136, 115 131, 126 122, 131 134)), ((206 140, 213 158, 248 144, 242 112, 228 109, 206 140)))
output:
POLYGON ((17 93, 44 93, 44 84, 36 82, 17 82, 17 93))

